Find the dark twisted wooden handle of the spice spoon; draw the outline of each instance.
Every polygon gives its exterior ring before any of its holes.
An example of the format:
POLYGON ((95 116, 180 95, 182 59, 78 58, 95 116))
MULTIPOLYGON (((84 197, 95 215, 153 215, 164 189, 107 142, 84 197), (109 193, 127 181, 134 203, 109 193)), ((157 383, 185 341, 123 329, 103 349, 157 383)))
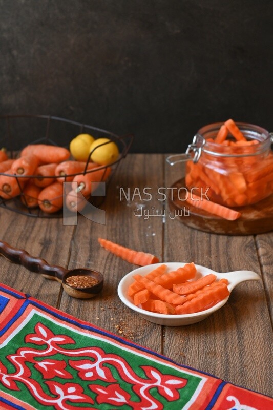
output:
POLYGON ((67 269, 48 264, 44 259, 35 258, 22 249, 12 248, 8 243, 0 241, 0 255, 13 263, 23 265, 31 272, 54 276, 58 281, 62 280, 67 269))

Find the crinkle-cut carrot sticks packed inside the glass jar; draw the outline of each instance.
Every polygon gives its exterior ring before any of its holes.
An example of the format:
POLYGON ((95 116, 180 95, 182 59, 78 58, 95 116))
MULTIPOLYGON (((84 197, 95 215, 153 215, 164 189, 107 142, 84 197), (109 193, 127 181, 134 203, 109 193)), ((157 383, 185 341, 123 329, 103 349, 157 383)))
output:
POLYGON ((229 154, 234 156, 202 153, 197 163, 187 161, 188 190, 197 187, 205 192, 209 187, 209 199, 226 207, 256 203, 273 193, 273 155, 262 160, 260 155, 254 155, 260 142, 247 140, 232 119, 225 121, 215 138, 208 138, 207 142, 217 144, 217 152, 224 153, 230 147, 229 154), (237 154, 246 156, 236 157, 237 154))

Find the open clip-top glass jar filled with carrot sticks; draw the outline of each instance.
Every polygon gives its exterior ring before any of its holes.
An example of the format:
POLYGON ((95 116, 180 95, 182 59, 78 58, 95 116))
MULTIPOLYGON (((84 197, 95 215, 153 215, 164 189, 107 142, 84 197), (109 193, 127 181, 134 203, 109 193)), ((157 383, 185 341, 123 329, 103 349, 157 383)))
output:
POLYGON ((214 139, 222 125, 202 127, 186 154, 167 158, 171 165, 186 160, 186 188, 197 195, 206 193, 209 200, 228 207, 253 204, 273 194, 272 134, 259 126, 236 122, 247 144, 218 144, 214 139))

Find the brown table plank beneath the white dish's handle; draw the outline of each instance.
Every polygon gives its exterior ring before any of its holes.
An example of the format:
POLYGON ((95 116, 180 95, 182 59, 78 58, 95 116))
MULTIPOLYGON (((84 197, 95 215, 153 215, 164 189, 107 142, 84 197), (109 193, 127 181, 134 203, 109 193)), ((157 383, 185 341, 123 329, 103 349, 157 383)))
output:
MULTIPOLYGON (((175 168, 166 166, 167 184, 178 177, 175 168)), ((164 260, 194 261, 218 272, 247 269, 261 274, 253 236, 209 234, 169 218, 164 260)), ((166 356, 232 383, 272 393, 271 324, 262 280, 238 285, 223 308, 204 321, 166 327, 164 333, 166 356)))

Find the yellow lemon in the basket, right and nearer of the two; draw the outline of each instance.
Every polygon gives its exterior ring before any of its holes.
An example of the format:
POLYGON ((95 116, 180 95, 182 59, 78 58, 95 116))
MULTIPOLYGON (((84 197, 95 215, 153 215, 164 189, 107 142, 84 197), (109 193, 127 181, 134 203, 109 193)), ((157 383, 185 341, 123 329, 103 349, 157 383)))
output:
POLYGON ((91 159, 99 165, 109 165, 110 163, 115 162, 118 159, 118 147, 115 142, 111 141, 111 139, 96 139, 90 147, 90 152, 92 152, 93 150, 94 152, 91 154, 91 159))

